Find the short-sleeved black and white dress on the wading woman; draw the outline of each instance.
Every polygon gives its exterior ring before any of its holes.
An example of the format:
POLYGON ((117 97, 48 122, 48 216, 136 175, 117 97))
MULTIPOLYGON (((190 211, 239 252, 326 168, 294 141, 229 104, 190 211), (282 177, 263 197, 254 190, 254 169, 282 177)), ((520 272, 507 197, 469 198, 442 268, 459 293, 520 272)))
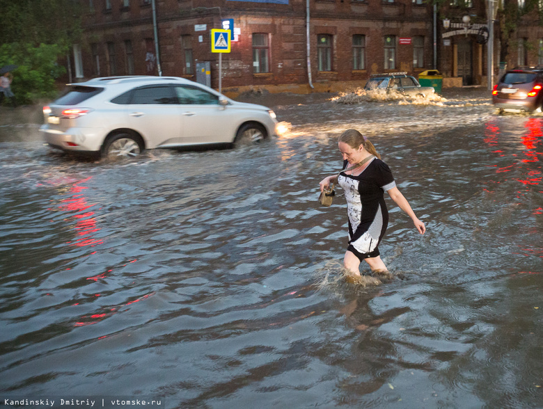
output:
MULTIPOLYGON (((343 162, 343 168, 349 166, 343 162)), ((377 257, 379 243, 388 225, 388 210, 384 192, 396 186, 390 168, 374 158, 360 175, 341 172, 338 184, 345 191, 347 216, 349 217, 349 247, 359 257, 377 257)))

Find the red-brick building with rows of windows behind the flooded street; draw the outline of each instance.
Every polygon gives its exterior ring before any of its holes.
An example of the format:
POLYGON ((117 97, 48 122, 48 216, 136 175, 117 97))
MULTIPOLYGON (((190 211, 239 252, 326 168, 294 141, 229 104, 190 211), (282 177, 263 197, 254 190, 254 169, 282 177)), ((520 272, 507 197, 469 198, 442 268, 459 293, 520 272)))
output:
POLYGON ((484 0, 465 0, 462 8, 453 0, 435 15, 423 0, 82 1, 86 40, 74 47, 77 80, 162 74, 203 82, 197 74, 204 72, 218 88, 210 30, 233 19, 238 35, 221 57, 226 93, 335 91, 361 86, 370 74, 416 76, 435 67, 443 86, 486 81, 487 46, 478 42, 484 0), (472 22, 462 22, 465 15, 472 22))

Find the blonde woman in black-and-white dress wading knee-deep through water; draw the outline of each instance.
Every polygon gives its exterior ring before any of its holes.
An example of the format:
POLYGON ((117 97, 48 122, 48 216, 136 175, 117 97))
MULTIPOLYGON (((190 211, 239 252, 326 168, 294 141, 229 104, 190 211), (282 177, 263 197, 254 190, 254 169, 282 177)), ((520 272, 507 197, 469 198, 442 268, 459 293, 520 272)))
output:
MULTIPOLYGON (((388 211, 384 192, 413 220, 420 234, 426 227, 418 220, 409 202, 400 193, 390 168, 381 161, 381 156, 365 136, 355 129, 348 129, 338 138, 343 155, 343 170, 339 175, 325 177, 320 182, 320 191, 332 183, 345 191, 347 216, 349 219, 349 246, 343 265, 356 278, 361 278, 359 266, 362 260, 372 269, 377 278, 391 278, 379 255, 379 243, 388 225, 388 211)), ((351 280, 354 281, 354 280, 351 280)))

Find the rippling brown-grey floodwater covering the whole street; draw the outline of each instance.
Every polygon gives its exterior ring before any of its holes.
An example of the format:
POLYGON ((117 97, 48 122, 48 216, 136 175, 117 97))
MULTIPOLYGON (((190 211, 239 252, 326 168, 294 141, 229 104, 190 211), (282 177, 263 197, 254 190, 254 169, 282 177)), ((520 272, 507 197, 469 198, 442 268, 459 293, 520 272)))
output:
POLYGON ((290 131, 237 150, 95 163, 1 130, 2 403, 542 408, 543 116, 255 99, 290 131), (352 127, 427 226, 387 199, 378 287, 341 280, 343 198, 317 203, 352 127))

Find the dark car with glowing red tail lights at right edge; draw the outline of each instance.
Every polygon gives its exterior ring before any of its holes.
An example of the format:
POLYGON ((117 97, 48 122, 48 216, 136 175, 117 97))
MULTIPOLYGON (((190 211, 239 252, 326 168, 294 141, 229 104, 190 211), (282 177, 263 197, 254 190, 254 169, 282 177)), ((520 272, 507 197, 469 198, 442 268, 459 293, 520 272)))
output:
POLYGON ((541 112, 543 67, 516 67, 503 74, 492 90, 492 103, 503 111, 541 112))

